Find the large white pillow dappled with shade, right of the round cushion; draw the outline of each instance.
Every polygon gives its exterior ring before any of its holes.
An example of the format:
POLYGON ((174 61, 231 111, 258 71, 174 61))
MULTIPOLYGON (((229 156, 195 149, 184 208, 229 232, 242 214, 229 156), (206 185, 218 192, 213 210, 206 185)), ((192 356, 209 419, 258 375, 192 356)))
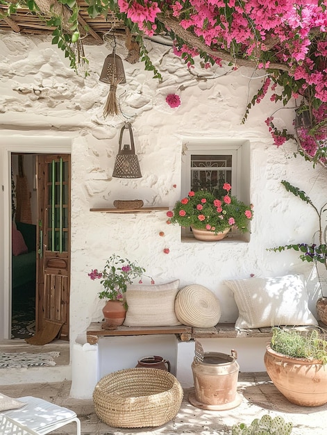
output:
POLYGON ((233 291, 239 311, 237 328, 318 324, 308 308, 302 275, 232 279, 225 284, 233 291))

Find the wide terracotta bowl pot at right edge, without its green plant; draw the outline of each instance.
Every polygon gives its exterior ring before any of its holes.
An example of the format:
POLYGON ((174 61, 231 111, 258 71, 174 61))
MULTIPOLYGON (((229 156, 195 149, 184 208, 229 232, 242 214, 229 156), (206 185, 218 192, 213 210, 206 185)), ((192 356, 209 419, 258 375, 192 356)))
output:
POLYGON ((321 361, 285 356, 268 345, 265 366, 271 381, 290 402, 301 407, 327 403, 327 368, 321 361))

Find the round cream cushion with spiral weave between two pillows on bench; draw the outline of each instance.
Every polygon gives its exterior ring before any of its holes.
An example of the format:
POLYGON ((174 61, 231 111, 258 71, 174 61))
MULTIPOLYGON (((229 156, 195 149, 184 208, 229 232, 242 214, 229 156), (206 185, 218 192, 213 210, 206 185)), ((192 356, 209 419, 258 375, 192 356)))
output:
POLYGON ((176 317, 183 325, 210 328, 219 322, 219 300, 208 288, 192 284, 179 290, 175 300, 176 317))

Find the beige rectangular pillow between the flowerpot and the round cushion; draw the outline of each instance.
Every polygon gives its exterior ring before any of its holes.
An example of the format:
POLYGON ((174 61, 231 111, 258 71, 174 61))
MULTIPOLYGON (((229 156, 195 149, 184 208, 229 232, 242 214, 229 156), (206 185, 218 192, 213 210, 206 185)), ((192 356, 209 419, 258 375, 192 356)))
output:
POLYGON ((175 314, 178 286, 179 279, 157 286, 128 287, 125 293, 128 310, 124 325, 131 327, 181 325, 175 314))

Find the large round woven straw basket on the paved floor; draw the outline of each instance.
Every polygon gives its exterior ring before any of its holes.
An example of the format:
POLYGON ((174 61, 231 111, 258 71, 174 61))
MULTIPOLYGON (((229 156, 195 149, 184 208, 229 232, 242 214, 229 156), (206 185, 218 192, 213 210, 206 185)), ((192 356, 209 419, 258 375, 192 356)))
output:
POLYGON ((112 427, 156 427, 174 418, 183 388, 158 368, 127 368, 106 375, 93 392, 94 409, 112 427))

